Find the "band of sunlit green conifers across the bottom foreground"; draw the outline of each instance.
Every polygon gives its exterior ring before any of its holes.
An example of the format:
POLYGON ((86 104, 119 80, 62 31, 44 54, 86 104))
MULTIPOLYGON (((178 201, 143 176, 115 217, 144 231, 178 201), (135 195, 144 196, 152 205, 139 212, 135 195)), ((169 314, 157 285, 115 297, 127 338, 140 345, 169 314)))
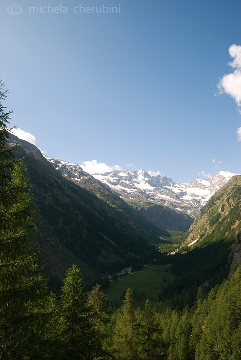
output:
MULTIPOLYGON (((135 309, 129 288, 120 309, 106 304, 96 284, 87 294, 79 270, 67 272, 60 300, 39 292, 38 307, 18 308, 11 327, 1 326, 2 359, 237 360, 241 357, 241 267, 231 281, 203 288, 192 307, 172 310, 149 300, 135 309), (20 315, 21 314, 21 315, 20 315), (23 316, 22 316, 23 315, 23 316), (30 325, 30 328, 29 328, 30 325)), ((33 305, 33 302, 32 302, 33 305)), ((34 303, 36 305, 36 303, 34 303)), ((2 325, 2 322, 1 322, 2 325)))

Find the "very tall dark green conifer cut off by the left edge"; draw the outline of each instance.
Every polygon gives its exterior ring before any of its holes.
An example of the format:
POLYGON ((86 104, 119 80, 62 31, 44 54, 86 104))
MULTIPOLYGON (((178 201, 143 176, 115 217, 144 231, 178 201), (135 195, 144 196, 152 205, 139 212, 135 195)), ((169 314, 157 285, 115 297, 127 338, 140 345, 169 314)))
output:
MULTIPOLYGON (((0 82, 0 100, 5 97, 0 82)), ((0 102, 0 359, 44 358, 50 310, 42 261, 32 249, 36 217, 22 162, 7 146, 11 112, 4 111, 0 102)))

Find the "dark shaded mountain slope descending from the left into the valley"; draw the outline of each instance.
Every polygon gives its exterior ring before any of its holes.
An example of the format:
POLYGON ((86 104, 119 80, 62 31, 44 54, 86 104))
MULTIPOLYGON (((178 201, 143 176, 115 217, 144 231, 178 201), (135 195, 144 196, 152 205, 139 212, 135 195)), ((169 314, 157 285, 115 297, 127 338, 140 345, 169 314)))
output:
POLYGON ((94 177, 82 173, 79 186, 34 145, 14 135, 10 141, 18 147, 17 157, 24 157, 52 273, 65 276, 73 262, 84 275, 119 271, 136 259, 153 258, 152 244, 169 236, 94 177))

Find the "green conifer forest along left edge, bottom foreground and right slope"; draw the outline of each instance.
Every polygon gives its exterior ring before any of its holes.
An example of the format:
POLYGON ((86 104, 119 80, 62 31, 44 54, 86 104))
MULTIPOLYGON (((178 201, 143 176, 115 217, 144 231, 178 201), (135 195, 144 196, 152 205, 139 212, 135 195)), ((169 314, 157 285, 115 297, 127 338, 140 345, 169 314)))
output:
POLYGON ((202 247, 183 247, 171 259, 160 253, 156 263, 171 262, 176 277, 154 304, 148 299, 137 307, 128 288, 119 307, 110 305, 102 284, 88 288, 75 264, 55 291, 37 245, 24 159, 15 156, 17 146, 8 146, 6 98, 0 82, 0 360, 240 360, 241 267, 228 279, 228 256, 240 237, 240 181, 220 214, 220 195, 209 202, 216 231, 202 247))

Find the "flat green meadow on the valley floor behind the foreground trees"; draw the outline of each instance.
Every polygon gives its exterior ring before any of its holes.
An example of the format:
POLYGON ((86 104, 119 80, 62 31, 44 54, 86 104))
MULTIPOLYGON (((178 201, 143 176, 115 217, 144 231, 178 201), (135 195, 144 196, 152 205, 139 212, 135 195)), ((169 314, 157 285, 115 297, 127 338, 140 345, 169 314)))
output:
POLYGON ((109 304, 118 308, 123 303, 124 293, 130 287, 134 292, 136 307, 143 308, 146 300, 150 300, 152 304, 158 302, 159 293, 174 277, 167 265, 144 266, 141 271, 123 276, 117 282, 110 282, 104 293, 109 304))

